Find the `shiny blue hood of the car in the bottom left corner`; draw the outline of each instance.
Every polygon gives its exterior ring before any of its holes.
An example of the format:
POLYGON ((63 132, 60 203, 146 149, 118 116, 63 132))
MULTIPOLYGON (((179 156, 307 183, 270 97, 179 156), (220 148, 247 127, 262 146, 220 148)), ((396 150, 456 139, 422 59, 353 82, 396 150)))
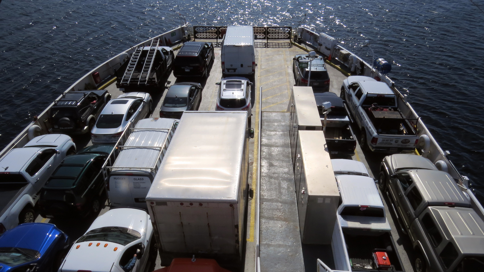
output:
POLYGON ((62 231, 53 224, 25 223, 7 230, 0 237, 0 247, 19 247, 43 255, 62 231))

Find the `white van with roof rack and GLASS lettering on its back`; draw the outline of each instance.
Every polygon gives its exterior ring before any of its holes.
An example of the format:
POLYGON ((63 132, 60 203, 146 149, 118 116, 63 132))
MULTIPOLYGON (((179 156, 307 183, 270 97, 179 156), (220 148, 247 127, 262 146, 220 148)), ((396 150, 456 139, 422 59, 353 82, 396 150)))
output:
POLYGON ((145 197, 163 160, 177 119, 148 118, 138 121, 120 150, 107 180, 107 195, 112 207, 147 209, 145 197))

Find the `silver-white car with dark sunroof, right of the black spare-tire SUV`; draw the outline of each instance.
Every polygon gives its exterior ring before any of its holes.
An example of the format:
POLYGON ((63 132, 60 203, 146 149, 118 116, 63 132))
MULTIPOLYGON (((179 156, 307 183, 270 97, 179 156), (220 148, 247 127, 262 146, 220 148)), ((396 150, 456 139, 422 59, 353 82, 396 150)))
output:
POLYGON ((147 92, 128 92, 112 99, 104 107, 91 130, 92 144, 116 143, 128 124, 149 117, 153 111, 151 95, 147 92), (131 123, 130 123, 131 122, 131 123))

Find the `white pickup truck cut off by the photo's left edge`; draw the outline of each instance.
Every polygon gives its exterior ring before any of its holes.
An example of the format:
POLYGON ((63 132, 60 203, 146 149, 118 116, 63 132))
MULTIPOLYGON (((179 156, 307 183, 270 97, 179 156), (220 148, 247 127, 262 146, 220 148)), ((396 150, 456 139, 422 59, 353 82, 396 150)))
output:
POLYGON ((70 136, 46 134, 0 158, 0 235, 34 221, 40 189, 65 156, 75 153, 70 136))

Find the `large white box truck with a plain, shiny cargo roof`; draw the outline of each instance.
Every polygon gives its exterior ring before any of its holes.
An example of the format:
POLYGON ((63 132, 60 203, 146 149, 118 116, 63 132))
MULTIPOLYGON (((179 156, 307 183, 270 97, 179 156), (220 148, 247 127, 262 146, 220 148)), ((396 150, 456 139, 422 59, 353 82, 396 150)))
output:
POLYGON ((247 112, 186 111, 146 196, 162 260, 240 264, 248 197, 247 112))

